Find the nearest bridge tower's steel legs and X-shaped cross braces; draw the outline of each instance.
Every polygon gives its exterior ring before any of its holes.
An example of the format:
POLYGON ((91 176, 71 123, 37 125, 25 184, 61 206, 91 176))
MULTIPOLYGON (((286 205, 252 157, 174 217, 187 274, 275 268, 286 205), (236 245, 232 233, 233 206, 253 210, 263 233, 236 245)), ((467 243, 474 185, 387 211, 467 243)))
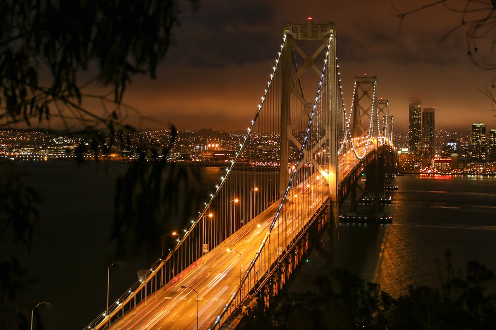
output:
MULTIPOLYGON (((300 79, 302 74, 307 71, 314 71, 319 77, 323 73, 321 72, 321 64, 315 61, 319 55, 327 52, 327 45, 329 42, 329 36, 332 34, 333 39, 330 43, 329 55, 327 56, 328 64, 326 65, 326 74, 328 75, 328 80, 325 83, 325 93, 327 93, 328 102, 325 105, 325 111, 327 111, 327 118, 330 118, 328 123, 325 123, 326 136, 318 141, 317 144, 311 148, 311 150, 304 150, 304 158, 300 163, 300 166, 306 162, 311 162, 315 168, 320 171, 320 173, 327 179, 329 186, 329 195, 331 197, 331 232, 333 241, 333 257, 335 265, 337 265, 337 244, 338 244, 338 74, 337 74, 337 63, 336 63, 336 27, 334 23, 327 24, 313 24, 312 20, 309 18, 307 24, 291 24, 286 23, 284 25, 284 33, 287 37, 286 46, 282 50, 281 54, 281 74, 282 74, 282 84, 281 84, 281 150, 280 150, 280 168, 279 168, 279 193, 284 194, 286 191, 287 183, 290 178, 289 169, 289 147, 290 140, 296 145, 296 147, 301 148, 301 143, 293 135, 293 128, 297 125, 297 121, 302 118, 302 116, 307 116, 310 119, 310 114, 313 106, 313 99, 310 102, 305 99, 303 94, 303 88, 301 86, 301 81, 299 82, 299 88, 294 87, 294 83, 300 79), (300 47, 302 43, 313 41, 315 44, 319 44, 316 50, 311 54, 307 55, 303 51, 303 47, 300 47), (292 65, 295 65, 295 53, 299 54, 304 59, 304 65, 299 67, 296 72, 292 74, 292 65), (299 100, 303 104, 303 113, 297 117, 296 120, 291 120, 290 118, 290 108, 291 99, 299 100), (329 163, 326 168, 322 168, 314 157, 313 153, 317 149, 321 149, 322 146, 327 145, 329 163), (327 167, 328 166, 328 167, 327 167), (326 171, 327 170, 327 171, 326 171), (335 244, 335 246, 334 246, 335 244)), ((320 56, 319 58, 322 58, 320 56)), ((317 86, 315 86, 317 87, 317 86)), ((313 89, 315 91, 315 89, 313 89)), ((310 97, 313 98, 314 95, 310 97)), ((316 120, 315 118, 313 120, 316 120)))

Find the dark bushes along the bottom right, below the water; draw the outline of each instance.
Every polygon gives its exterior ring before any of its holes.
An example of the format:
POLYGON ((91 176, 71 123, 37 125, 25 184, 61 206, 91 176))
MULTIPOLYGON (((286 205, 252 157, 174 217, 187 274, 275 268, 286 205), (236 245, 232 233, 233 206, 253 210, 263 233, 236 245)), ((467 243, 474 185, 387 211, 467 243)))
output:
POLYGON ((245 329, 496 329, 494 273, 476 261, 468 262, 463 278, 453 276, 450 266, 447 273, 440 289, 411 286, 394 298, 376 283, 337 270, 317 277, 313 291, 282 294, 265 317, 249 318, 245 329))

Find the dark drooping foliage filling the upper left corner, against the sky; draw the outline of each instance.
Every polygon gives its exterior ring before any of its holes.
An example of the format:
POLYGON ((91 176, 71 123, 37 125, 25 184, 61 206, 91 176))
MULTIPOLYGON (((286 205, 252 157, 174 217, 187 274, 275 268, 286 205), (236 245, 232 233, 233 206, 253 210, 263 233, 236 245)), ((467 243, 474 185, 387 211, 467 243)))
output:
POLYGON ((82 127, 123 124, 116 105, 132 76, 155 77, 172 43, 178 2, 1 1, 2 125, 52 117, 76 119, 82 127), (95 82, 111 86, 113 97, 88 94, 95 82), (111 101, 114 107, 103 113, 89 110, 85 98, 111 101))

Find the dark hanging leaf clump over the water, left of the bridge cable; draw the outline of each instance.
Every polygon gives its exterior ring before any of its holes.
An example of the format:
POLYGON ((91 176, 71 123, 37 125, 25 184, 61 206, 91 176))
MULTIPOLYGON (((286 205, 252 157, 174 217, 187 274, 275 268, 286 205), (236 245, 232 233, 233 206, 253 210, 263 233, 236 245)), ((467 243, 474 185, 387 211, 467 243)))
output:
POLYGON ((199 205, 200 176, 197 170, 167 162, 176 138, 173 127, 170 144, 162 153, 152 150, 147 157, 129 165, 117 180, 112 239, 117 257, 155 254, 165 233, 184 227, 199 205), (187 197, 186 197, 187 196, 187 197), (176 218, 175 223, 171 219, 176 218), (176 227, 174 227, 176 226, 176 227))

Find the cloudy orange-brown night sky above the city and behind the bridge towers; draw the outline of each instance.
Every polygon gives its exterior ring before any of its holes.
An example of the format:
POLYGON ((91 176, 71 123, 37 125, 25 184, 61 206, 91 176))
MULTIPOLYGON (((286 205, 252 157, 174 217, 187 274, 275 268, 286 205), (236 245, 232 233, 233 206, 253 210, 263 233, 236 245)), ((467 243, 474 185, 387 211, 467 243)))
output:
POLYGON ((389 100, 397 131, 408 129, 414 96, 435 107, 436 128, 469 131, 473 122, 496 128, 491 102, 479 91, 491 87, 495 71, 470 61, 466 30, 440 41, 461 16, 434 7, 400 24, 394 15, 395 8, 407 11, 427 2, 200 0, 193 10, 181 1, 176 42, 157 79, 134 78, 124 102, 154 118, 142 122, 142 129, 173 123, 179 129, 244 130, 263 95, 284 23, 304 24, 311 16, 315 24, 336 24, 347 109, 355 76, 367 73, 377 77, 378 96, 389 100))

